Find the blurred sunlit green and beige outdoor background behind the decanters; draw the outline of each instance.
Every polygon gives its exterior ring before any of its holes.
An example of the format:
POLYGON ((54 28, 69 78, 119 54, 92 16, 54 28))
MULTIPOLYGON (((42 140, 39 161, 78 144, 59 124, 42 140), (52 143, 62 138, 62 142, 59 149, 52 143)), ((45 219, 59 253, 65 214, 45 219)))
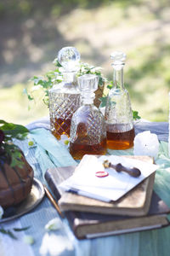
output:
POLYGON ((26 125, 48 114, 41 97, 28 110, 29 79, 54 69, 60 48, 112 79, 110 54, 127 54, 125 84, 143 119, 168 120, 168 0, 3 0, 0 2, 0 119, 26 125))

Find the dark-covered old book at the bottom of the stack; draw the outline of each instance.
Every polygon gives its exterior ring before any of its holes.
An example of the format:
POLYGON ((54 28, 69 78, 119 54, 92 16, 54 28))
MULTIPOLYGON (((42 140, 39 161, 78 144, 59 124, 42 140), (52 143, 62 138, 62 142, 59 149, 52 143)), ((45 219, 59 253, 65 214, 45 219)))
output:
POLYGON ((167 205, 153 192, 147 216, 123 217, 73 211, 65 212, 65 216, 75 236, 84 239, 162 228, 169 224, 167 219, 169 212, 167 205))

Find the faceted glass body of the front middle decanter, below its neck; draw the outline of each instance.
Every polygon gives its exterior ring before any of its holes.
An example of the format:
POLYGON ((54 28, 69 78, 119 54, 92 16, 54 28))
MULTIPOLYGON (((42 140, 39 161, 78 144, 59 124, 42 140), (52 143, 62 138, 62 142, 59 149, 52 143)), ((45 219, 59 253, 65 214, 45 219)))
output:
POLYGON ((76 160, 84 154, 106 153, 105 119, 94 105, 82 106, 73 114, 70 153, 76 160))

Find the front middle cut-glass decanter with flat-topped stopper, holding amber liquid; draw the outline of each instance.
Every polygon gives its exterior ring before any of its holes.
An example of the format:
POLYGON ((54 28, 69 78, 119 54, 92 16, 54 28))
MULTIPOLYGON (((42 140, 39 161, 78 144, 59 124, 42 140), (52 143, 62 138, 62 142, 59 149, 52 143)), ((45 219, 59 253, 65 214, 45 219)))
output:
POLYGON ((106 153, 105 118, 94 106, 94 91, 98 89, 98 82, 94 74, 78 78, 82 107, 72 116, 70 139, 70 153, 76 160, 81 160, 84 154, 106 153))

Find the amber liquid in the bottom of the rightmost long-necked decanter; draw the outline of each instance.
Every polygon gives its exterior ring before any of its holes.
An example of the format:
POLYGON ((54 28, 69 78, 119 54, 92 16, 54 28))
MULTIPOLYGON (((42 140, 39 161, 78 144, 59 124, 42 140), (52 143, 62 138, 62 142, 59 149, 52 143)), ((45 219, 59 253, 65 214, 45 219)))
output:
POLYGON ((133 147, 134 128, 130 131, 111 132, 107 131, 107 148, 127 149, 133 147))

